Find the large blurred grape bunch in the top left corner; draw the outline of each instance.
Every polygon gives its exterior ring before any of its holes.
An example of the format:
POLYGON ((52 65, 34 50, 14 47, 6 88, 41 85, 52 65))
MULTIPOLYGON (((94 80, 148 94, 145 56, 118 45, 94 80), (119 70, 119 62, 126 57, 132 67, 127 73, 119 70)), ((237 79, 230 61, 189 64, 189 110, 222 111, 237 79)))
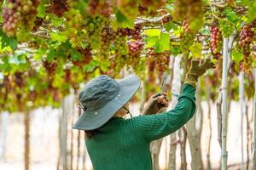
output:
POLYGON ((39 3, 40 0, 8 0, 3 8, 3 31, 14 36, 20 27, 32 30, 39 3))

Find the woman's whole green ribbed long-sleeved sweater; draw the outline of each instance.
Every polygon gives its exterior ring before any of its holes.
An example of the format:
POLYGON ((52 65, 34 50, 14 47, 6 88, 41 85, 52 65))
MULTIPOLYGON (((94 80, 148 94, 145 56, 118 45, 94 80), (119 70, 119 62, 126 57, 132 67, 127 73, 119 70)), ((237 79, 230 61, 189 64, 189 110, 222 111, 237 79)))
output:
POLYGON ((151 170, 150 142, 175 132, 194 114, 195 88, 185 84, 172 111, 131 119, 113 117, 85 140, 94 170, 151 170))

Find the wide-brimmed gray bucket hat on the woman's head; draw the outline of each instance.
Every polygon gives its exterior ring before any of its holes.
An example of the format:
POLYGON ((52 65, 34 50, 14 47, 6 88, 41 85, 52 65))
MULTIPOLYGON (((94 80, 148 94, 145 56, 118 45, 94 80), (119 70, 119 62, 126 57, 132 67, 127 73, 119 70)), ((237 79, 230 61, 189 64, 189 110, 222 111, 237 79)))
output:
POLYGON ((106 75, 96 77, 84 85, 79 101, 84 112, 73 128, 93 130, 119 111, 137 93, 140 81, 136 75, 130 75, 116 81, 106 75))

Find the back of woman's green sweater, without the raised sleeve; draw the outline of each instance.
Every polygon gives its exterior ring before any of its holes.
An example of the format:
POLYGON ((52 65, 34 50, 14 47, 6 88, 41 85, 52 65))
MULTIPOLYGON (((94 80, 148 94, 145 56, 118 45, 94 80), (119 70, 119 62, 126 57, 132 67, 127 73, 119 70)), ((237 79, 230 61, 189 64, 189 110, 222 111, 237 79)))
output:
POLYGON ((86 139, 95 170, 152 169, 149 143, 138 135, 132 120, 113 117, 96 135, 86 139))

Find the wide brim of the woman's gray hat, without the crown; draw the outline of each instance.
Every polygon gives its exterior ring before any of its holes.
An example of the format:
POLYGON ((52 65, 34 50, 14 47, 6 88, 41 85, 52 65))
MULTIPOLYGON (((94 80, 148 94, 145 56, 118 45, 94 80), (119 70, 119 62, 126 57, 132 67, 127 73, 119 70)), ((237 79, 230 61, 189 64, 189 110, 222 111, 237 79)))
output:
POLYGON ((136 75, 130 75, 118 81, 120 89, 118 94, 107 105, 96 111, 84 111, 73 128, 79 130, 94 130, 102 127, 109 119, 122 108, 131 97, 137 93, 141 82, 136 75))

